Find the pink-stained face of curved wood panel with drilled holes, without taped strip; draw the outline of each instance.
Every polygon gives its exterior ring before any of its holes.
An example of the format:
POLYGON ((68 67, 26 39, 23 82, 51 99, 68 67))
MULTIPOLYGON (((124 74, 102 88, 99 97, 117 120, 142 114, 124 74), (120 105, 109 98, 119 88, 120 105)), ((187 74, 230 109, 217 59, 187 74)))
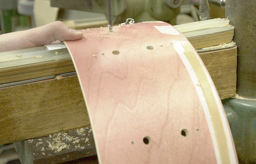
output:
MULTIPOLYGON (((87 105, 99 162, 232 163, 235 151, 230 131, 224 139, 231 143, 225 157, 231 160, 225 162, 216 150, 219 142, 213 139, 215 132, 210 132, 211 120, 207 120, 202 96, 172 46, 172 40, 187 39, 179 32, 166 34, 154 26, 170 25, 136 23, 115 26, 113 32, 107 27, 86 29, 83 39, 66 41, 87 105)), ((221 106, 220 101, 215 103, 221 106)), ((228 126, 225 119, 219 121, 228 126)))

